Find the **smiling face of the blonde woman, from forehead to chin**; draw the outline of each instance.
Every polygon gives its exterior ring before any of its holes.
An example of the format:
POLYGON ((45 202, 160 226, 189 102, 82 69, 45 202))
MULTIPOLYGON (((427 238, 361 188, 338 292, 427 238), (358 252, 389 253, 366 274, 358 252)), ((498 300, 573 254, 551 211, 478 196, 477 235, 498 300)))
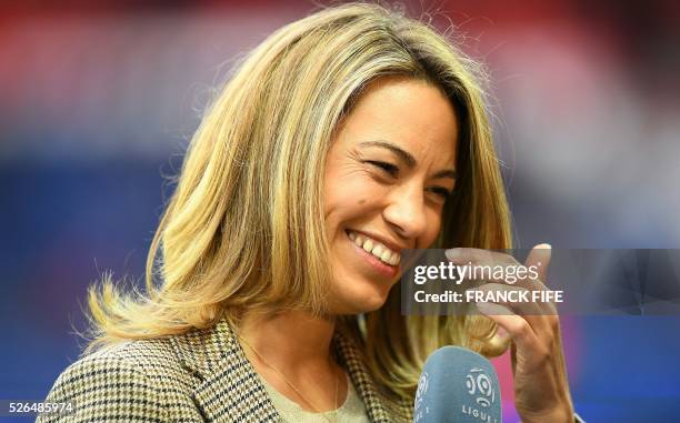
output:
POLYGON ((328 153, 331 313, 379 309, 402 249, 429 248, 454 185, 458 122, 428 82, 383 78, 360 97, 328 153))

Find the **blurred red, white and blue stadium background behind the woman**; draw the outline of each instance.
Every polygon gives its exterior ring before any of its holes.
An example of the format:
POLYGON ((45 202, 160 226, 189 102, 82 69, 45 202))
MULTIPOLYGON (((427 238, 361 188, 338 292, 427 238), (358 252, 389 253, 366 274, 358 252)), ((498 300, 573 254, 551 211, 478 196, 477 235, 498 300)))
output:
MULTIPOLYGON (((680 248, 680 3, 401 4, 454 23, 488 66, 518 246, 680 248)), ((162 175, 213 87, 318 7, 0 4, 0 399, 44 397, 78 357, 86 288, 104 270, 142 276, 162 175)), ((564 316, 583 417, 678 419, 678 316, 564 316)), ((517 422, 507 354, 494 364, 517 422)))

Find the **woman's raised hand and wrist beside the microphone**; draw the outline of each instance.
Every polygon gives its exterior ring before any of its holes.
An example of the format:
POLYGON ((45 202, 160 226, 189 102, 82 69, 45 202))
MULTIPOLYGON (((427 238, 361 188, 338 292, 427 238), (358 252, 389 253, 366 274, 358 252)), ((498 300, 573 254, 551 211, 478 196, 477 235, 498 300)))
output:
MULTIPOLYGON (((471 263, 491 265, 492 269, 499 264, 521 265, 509 254, 479 249, 448 250, 447 256, 460 265, 471 263)), ((537 245, 524 264, 527 268, 537 266, 537 279, 527 276, 514 283, 494 279, 478 290, 548 291, 542 281, 546 281, 549 262, 550 245, 537 245)), ((478 303, 478 309, 499 325, 501 336, 511 338, 514 404, 522 423, 572 423, 573 405, 562 352, 560 320, 554 304, 489 302, 478 303)))

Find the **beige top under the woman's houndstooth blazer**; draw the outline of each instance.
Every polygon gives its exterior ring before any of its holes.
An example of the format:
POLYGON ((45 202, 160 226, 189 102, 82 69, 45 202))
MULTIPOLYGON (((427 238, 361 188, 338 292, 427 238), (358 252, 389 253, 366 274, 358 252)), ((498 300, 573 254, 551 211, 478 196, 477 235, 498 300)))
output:
POLYGON ((328 411, 324 413, 312 413, 302 410, 302 407, 292 400, 282 395, 272 385, 270 385, 264 377, 260 377, 267 393, 271 397, 271 402, 281 415, 281 419, 286 423, 369 423, 368 414, 363 402, 357 395, 352 381, 347 376, 347 397, 342 405, 336 411, 328 411))

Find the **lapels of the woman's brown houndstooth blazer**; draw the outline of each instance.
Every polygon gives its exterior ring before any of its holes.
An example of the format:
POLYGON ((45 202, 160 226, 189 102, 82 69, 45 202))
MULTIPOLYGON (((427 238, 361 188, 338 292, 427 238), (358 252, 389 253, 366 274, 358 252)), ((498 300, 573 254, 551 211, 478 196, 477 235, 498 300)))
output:
MULTIPOLYGON (((193 400, 207 421, 281 421, 227 321, 172 336, 171 342, 182 367, 200 381, 193 387, 193 400)), ((333 351, 363 401, 369 420, 390 422, 384 399, 371 380, 353 340, 342 331, 336 331, 333 351)))

